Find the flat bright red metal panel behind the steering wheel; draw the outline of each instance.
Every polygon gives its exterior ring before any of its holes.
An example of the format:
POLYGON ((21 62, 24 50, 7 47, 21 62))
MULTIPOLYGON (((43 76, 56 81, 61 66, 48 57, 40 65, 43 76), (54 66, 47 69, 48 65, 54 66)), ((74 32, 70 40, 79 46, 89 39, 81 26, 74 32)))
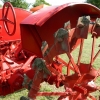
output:
MULTIPOLYGON (((0 36, 2 36, 3 41, 13 41, 13 40, 19 40, 20 39, 20 22, 28 17, 31 12, 23 10, 21 8, 14 8, 15 14, 16 14, 16 31, 13 36, 9 36, 5 29, 3 21, 0 21, 0 25, 2 26, 2 32, 0 33, 0 36)), ((0 9, 0 18, 2 19, 2 9, 0 9)), ((9 20, 13 20, 13 15, 11 10, 8 12, 8 18, 9 20)), ((9 29, 13 29, 12 25, 8 24, 9 29)))

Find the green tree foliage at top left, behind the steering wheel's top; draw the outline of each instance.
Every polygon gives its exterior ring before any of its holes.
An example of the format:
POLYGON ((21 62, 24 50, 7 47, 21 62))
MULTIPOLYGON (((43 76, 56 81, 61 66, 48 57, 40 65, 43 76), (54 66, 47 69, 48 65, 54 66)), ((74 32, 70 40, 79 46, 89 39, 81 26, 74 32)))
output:
POLYGON ((14 7, 27 9, 29 7, 29 3, 27 3, 25 0, 2 0, 3 3, 10 2, 14 7))

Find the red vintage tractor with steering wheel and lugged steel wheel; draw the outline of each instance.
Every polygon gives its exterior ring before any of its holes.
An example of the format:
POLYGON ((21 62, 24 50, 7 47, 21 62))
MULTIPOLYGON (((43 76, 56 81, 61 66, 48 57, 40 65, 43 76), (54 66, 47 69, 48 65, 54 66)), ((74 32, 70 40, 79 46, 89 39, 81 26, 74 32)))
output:
POLYGON ((27 88, 28 98, 20 100, 35 100, 41 95, 59 95, 58 100, 96 100, 90 93, 100 90, 95 84, 100 70, 93 66, 100 54, 100 49, 95 53, 100 9, 87 3, 67 3, 30 13, 6 2, 0 12, 0 95, 27 88), (87 64, 81 59, 88 35, 92 42, 87 64), (76 61, 72 52, 78 47, 76 61), (44 81, 65 90, 39 92, 44 81))

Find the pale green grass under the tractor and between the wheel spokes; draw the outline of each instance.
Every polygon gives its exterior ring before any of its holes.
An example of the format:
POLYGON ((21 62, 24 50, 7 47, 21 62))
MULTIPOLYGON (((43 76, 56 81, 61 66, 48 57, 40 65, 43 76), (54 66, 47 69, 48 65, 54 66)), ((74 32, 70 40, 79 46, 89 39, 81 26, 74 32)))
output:
MULTIPOLYGON (((84 48, 83 48, 82 59, 81 59, 82 63, 88 64, 90 62, 91 50, 92 50, 91 43, 92 43, 92 38, 91 38, 91 35, 89 35, 88 39, 86 39, 84 42, 84 48)), ((95 53, 100 49, 98 47, 99 44, 100 44, 100 38, 96 39, 95 53)), ((79 47, 76 50, 74 50, 72 53, 75 62, 77 62, 78 53, 79 53, 79 47)), ((62 54, 61 58, 63 58, 64 60, 66 60, 68 62, 68 57, 65 54, 62 54)), ((100 68, 100 55, 96 59, 96 61, 93 63, 93 66, 96 69, 100 68)), ((66 73, 65 67, 63 69, 63 73, 66 73)), ((98 86, 100 86, 100 77, 96 80, 96 84, 98 86)), ((64 88, 60 87, 59 89, 57 89, 54 85, 49 85, 48 83, 43 82, 41 84, 40 91, 48 91, 48 92, 64 91, 64 88)), ((13 94, 7 95, 5 97, 0 97, 0 100, 19 100, 19 98, 21 96, 27 96, 27 93, 28 93, 28 91, 26 89, 23 89, 23 90, 15 92, 13 94)), ((95 96, 97 98, 97 100, 99 100, 98 99, 98 97, 100 96, 99 91, 92 93, 92 95, 95 96)), ((40 97, 37 97, 37 100, 57 100, 57 98, 58 98, 57 96, 56 97, 55 96, 40 96, 40 97)))

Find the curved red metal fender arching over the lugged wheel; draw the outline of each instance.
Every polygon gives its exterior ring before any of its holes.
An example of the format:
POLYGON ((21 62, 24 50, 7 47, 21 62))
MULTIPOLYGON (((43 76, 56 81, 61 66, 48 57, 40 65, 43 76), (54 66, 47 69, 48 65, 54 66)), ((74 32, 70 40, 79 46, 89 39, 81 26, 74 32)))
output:
POLYGON ((21 22, 23 49, 42 57, 40 49, 42 41, 47 41, 51 47, 54 43, 53 34, 63 27, 65 22, 70 20, 73 28, 80 16, 88 15, 91 19, 100 17, 100 10, 87 3, 68 3, 38 10, 21 22))

